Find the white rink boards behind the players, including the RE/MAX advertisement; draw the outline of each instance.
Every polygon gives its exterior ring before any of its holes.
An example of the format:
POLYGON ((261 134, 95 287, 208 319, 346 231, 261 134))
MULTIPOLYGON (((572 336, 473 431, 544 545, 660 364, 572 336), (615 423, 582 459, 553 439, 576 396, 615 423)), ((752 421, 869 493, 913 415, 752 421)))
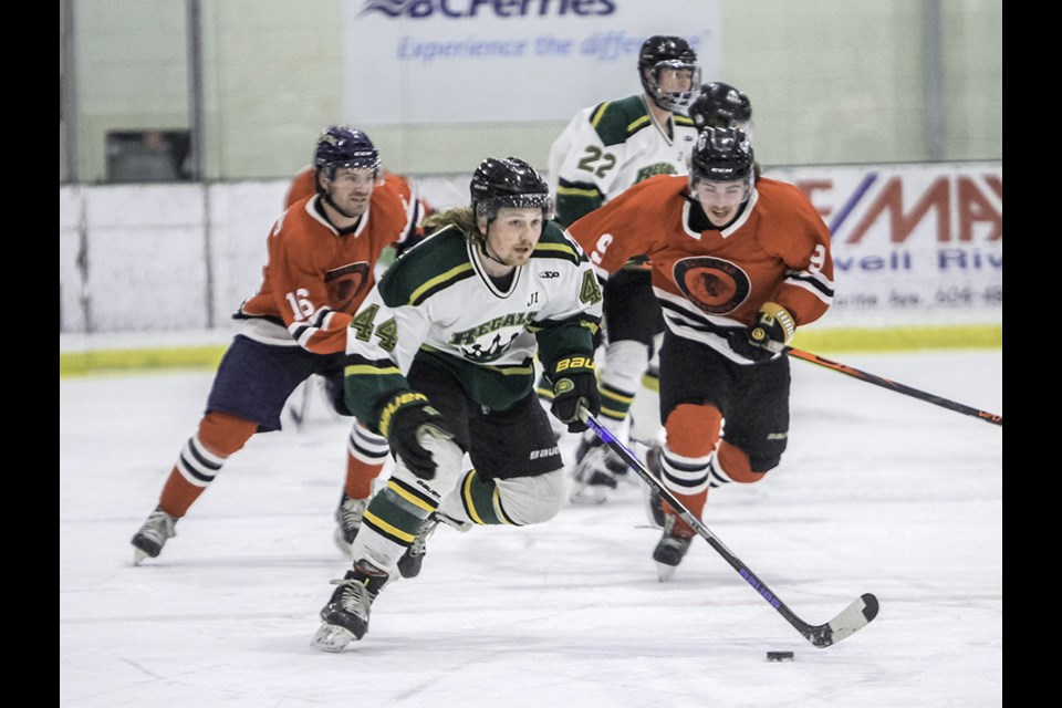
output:
MULTIPOLYGON (((816 327, 1002 322, 1001 164, 767 175, 804 189, 834 228, 836 296, 816 327)), ((416 181, 433 206, 448 207, 467 204, 468 179, 416 181)), ((227 327, 260 282, 287 187, 218 184, 208 199, 199 185, 60 187, 61 331, 85 332, 86 312, 94 332, 227 327)))

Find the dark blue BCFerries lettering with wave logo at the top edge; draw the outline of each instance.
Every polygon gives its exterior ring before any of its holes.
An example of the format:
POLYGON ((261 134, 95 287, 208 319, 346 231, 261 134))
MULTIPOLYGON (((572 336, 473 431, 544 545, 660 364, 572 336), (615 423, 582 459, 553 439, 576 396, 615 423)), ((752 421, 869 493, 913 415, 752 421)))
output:
POLYGON ((532 15, 606 15, 616 11, 614 0, 366 0, 358 14, 378 12, 389 18, 419 20, 430 17, 499 18, 532 15))

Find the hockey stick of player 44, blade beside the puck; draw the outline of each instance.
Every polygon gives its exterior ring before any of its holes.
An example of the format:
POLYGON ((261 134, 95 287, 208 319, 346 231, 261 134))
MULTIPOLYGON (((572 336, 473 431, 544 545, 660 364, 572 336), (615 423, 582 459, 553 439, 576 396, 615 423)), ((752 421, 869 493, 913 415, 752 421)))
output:
POLYGON ((748 565, 741 562, 741 560, 733 554, 733 552, 728 549, 722 541, 720 541, 715 533, 712 533, 708 527, 706 527, 700 519, 695 517, 693 513, 686 509, 683 503, 675 498, 675 496, 664 487, 664 483, 654 477, 641 461, 635 457, 634 452, 627 449, 627 447, 617 440, 615 436, 612 435, 606 428, 602 427, 600 423, 585 408, 580 408, 579 417, 591 427, 594 434, 601 438, 605 445, 611 447, 627 466, 638 473, 638 477, 645 481, 646 485, 656 489, 660 492, 660 497, 667 501, 678 512, 678 516, 683 518, 683 521, 688 523, 705 541, 708 541, 708 544, 716 550, 719 555, 723 558, 733 568, 738 571, 738 574, 745 579, 749 585, 752 586, 760 596, 763 597, 774 610, 778 611, 780 615, 785 617, 785 621, 789 624, 800 632, 805 639, 811 642, 812 646, 816 646, 820 649, 825 648, 832 644, 836 644, 841 639, 848 637, 874 620, 877 616, 877 597, 871 593, 861 595, 857 600, 852 602, 847 607, 841 611, 836 617, 827 622, 826 624, 808 624, 795 614, 793 611, 785 606, 785 603, 782 602, 774 591, 769 589, 767 584, 757 577, 756 573, 749 569, 748 565))

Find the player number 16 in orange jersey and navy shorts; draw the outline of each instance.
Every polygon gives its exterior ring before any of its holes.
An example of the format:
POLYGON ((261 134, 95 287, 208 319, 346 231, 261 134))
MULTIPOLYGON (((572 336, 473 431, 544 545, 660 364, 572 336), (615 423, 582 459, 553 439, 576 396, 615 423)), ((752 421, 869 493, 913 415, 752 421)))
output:
MULTIPOLYGON (((336 412, 353 415, 343 402, 347 325, 375 283, 383 250, 415 238, 418 201, 404 183, 382 179, 372 140, 347 126, 321 134, 313 176, 315 192, 293 202, 269 232, 262 283, 233 314, 241 330, 221 360, 204 417, 133 537, 136 563, 159 554, 175 523, 252 435, 281 428, 284 403, 311 375, 325 379, 336 412)), ((347 450, 335 533, 344 552, 389 448, 355 420, 347 450)))

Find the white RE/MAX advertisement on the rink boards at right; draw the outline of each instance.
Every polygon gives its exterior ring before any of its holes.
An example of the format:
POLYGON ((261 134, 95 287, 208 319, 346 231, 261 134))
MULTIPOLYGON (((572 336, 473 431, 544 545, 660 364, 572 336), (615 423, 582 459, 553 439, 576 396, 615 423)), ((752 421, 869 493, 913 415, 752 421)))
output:
POLYGON ((832 235, 833 324, 1001 322, 999 163, 768 169, 832 235))

